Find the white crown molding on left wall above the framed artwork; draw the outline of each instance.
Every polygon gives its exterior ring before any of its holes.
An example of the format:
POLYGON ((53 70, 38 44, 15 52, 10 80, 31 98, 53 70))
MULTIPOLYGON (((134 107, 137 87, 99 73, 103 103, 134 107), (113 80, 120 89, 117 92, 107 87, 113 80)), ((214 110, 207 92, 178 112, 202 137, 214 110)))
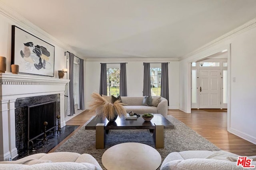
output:
MULTIPOLYGON (((0 13, 9 18, 10 20, 14 21, 14 24, 18 24, 19 26, 24 27, 26 31, 30 31, 31 33, 33 33, 33 35, 38 36, 45 41, 54 43, 65 51, 74 51, 74 49, 70 48, 69 45, 63 43, 62 41, 56 39, 46 31, 41 29, 40 27, 34 25, 32 22, 18 14, 16 11, 6 6, 3 2, 0 2, 0 13)), ((76 53, 76 51, 74 51, 74 53, 76 53)))

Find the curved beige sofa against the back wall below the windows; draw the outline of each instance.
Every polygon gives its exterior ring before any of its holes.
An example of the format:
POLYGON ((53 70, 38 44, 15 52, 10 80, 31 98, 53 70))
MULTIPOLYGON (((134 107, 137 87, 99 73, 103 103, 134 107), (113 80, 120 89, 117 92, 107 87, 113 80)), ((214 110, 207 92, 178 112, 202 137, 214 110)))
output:
POLYGON ((142 106, 143 96, 122 96, 121 100, 122 103, 126 104, 124 106, 127 113, 129 111, 133 111, 137 114, 144 114, 144 113, 160 113, 164 117, 167 116, 168 112, 168 101, 165 98, 160 99, 160 102, 157 107, 155 106, 142 106))

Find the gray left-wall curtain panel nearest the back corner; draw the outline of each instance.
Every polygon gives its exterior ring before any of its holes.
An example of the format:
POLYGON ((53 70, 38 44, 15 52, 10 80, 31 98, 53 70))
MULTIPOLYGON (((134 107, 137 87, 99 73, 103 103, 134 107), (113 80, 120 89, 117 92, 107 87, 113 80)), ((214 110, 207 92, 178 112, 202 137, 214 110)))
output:
POLYGON ((84 60, 79 59, 79 85, 78 85, 78 92, 79 92, 79 104, 78 109, 84 110, 84 60))

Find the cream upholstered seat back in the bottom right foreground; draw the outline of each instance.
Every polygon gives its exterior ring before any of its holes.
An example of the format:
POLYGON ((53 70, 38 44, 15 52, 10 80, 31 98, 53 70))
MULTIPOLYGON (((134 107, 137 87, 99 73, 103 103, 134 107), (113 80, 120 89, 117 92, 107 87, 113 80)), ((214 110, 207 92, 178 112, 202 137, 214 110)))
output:
MULTIPOLYGON (((242 170, 242 166, 236 166, 238 156, 224 150, 172 152, 166 156, 160 170, 242 170)), ((256 156, 249 158, 252 159, 251 165, 256 167, 256 156)))

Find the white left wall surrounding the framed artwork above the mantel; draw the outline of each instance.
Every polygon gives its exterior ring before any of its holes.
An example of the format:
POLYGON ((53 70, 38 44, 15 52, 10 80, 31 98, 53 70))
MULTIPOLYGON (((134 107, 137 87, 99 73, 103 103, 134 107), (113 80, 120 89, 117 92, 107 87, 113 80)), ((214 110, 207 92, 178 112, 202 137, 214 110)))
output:
MULTIPOLYGON (((27 23, 30 25, 31 23, 27 23)), ((23 26, 23 23, 19 23, 18 21, 14 21, 12 18, 4 16, 2 13, 0 13, 0 56, 6 57, 6 72, 11 72, 11 43, 12 43, 12 25, 16 25, 17 27, 20 27, 21 29, 31 33, 32 35, 35 35, 36 37, 50 43, 55 47, 54 51, 54 78, 58 78, 58 70, 62 70, 63 68, 66 68, 66 57, 64 55, 65 51, 68 51, 68 49, 64 49, 63 47, 60 47, 56 45, 54 40, 46 39, 44 36, 40 36, 40 33, 36 31, 28 31, 31 30, 31 28, 23 26)), ((47 36, 48 37, 48 36, 47 36)), ((70 51, 70 49, 69 49, 70 51)), ((71 51, 72 52, 72 51, 71 51)), ((85 62, 84 62, 84 66, 85 62)), ((84 70, 85 72, 85 70, 84 70)), ((21 74, 21 73, 20 73, 21 74)), ((66 73, 65 73, 66 74, 66 73)), ((85 73, 84 73, 85 75, 85 73)), ((40 75, 38 75, 40 76, 40 75)), ((48 76, 47 76, 48 77, 48 76)), ((48 77, 49 79, 52 77, 48 77)), ((64 76, 66 78, 66 75, 64 76)), ((85 82, 84 82, 85 86, 85 82)), ((84 87, 85 89, 85 87, 84 87)), ((81 110, 76 110, 76 113, 81 113, 81 110)), ((66 117, 66 121, 72 117, 66 117)))

